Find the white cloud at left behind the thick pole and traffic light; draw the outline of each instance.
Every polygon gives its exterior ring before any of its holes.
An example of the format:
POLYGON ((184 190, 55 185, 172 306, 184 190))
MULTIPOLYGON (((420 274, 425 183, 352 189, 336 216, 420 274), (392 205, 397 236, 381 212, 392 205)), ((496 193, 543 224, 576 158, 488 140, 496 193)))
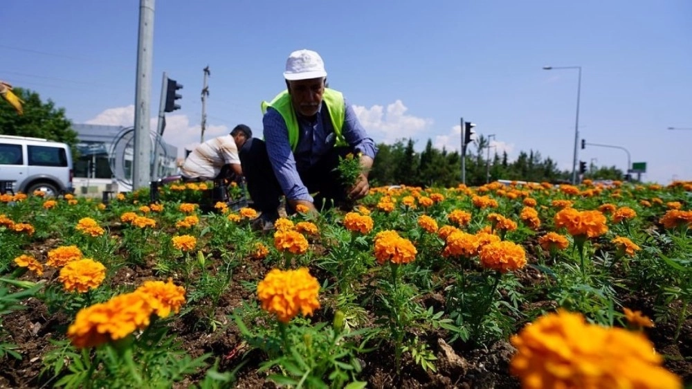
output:
MULTIPOLYGON (((134 123, 134 105, 127 107, 109 108, 98 114, 95 118, 86 120, 86 124, 92 125, 121 125, 131 126, 134 123)), ((158 118, 154 117, 149 122, 149 129, 155 130, 158 118)), ((230 129, 225 125, 208 125, 204 131, 204 140, 225 135, 230 129)), ((192 150, 199 145, 201 125, 190 125, 190 119, 186 115, 167 115, 166 127, 163 139, 166 143, 178 147, 179 156, 184 155, 185 149, 192 150)))

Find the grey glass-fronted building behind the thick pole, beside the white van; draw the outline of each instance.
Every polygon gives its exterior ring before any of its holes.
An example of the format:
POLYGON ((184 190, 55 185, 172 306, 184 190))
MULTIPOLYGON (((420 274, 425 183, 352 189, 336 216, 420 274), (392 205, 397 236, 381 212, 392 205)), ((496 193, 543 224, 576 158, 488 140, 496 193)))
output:
MULTIPOLYGON (((132 127, 73 124, 72 128, 79 140, 79 156, 74 161, 75 192, 100 195, 103 190, 112 190, 113 184, 118 186, 116 191, 131 190, 134 155, 132 127)), ((157 146, 158 177, 175 174, 178 170, 178 147, 163 140, 157 146)))

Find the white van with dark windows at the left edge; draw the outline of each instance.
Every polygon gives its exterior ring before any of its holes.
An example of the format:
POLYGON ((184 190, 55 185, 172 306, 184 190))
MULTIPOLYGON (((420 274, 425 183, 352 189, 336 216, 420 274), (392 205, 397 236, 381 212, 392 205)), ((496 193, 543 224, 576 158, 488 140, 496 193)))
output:
POLYGON ((12 183, 15 192, 72 193, 73 174, 72 153, 66 143, 0 135, 0 181, 12 183))

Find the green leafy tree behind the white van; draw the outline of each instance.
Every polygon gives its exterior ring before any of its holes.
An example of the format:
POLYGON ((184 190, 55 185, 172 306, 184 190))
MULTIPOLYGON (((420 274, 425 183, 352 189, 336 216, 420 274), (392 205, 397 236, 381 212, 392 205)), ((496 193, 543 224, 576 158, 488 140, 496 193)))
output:
POLYGON ((24 115, 18 115, 11 105, 0 102, 0 134, 64 142, 72 147, 74 154, 78 143, 77 132, 65 117, 65 109, 55 108, 51 100, 42 102, 36 92, 21 88, 15 88, 14 92, 24 100, 24 115))

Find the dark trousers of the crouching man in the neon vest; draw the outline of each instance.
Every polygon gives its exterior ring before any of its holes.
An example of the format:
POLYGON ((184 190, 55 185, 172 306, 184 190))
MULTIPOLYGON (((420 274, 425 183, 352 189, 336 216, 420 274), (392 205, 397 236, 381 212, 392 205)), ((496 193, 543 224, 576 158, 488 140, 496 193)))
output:
MULTIPOLYGON (((307 170, 298 170, 300 179, 308 192, 314 194, 314 203, 318 209, 340 206, 347 202, 347 190, 336 167, 339 157, 345 157, 353 152, 351 147, 334 147, 322 159, 307 170)), ((243 174, 248 184, 248 192, 255 203, 257 210, 275 215, 280 203, 280 197, 284 194, 271 167, 269 156, 266 152, 266 144, 261 139, 251 138, 239 151, 240 163, 243 174)), ((286 212, 295 212, 288 204, 286 212)))

